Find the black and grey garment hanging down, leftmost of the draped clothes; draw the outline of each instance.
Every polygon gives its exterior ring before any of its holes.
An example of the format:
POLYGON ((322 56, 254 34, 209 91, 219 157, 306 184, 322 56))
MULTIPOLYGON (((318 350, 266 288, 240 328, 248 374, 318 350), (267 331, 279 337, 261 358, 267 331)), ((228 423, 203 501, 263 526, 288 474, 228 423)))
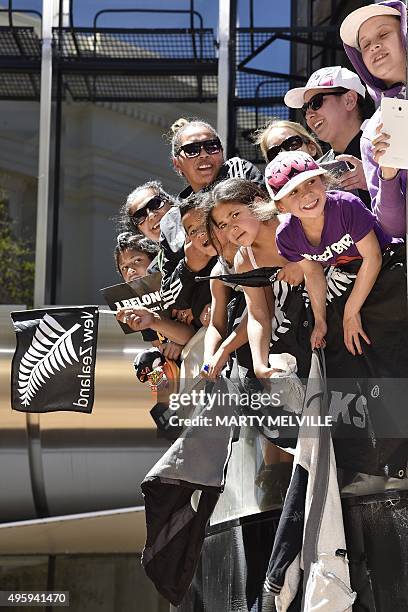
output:
MULTIPOLYGON (((214 398, 239 391, 227 378, 199 380, 197 392, 214 398)), ((207 413, 203 400, 194 417, 207 413)), ((216 401, 220 418, 231 416, 227 402, 216 401)), ((199 421, 200 422, 200 421, 199 421)), ((200 557, 205 528, 224 488, 234 427, 191 425, 145 476, 146 545, 142 565, 159 593, 177 606, 183 599, 200 557)))

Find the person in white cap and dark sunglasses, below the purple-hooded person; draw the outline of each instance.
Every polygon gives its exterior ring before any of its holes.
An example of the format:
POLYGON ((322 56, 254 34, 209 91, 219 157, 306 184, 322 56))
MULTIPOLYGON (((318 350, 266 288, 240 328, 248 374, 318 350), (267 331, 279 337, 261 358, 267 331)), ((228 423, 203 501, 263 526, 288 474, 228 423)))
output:
POLYGON ((305 87, 290 89, 284 98, 289 108, 302 109, 309 128, 331 149, 318 161, 343 160, 350 166, 341 175, 340 188, 354 191, 371 208, 361 163, 362 124, 373 108, 365 100, 365 87, 357 74, 341 66, 316 70, 305 87), (369 110, 368 110, 369 109, 369 110))

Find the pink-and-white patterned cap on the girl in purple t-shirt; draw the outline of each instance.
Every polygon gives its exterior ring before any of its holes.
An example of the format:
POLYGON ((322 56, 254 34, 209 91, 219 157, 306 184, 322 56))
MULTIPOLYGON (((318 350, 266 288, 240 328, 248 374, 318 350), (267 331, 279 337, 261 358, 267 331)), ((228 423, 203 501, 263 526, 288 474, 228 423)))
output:
POLYGON ((327 171, 307 153, 284 151, 266 166, 266 188, 272 200, 277 202, 298 185, 319 174, 327 174, 327 171))

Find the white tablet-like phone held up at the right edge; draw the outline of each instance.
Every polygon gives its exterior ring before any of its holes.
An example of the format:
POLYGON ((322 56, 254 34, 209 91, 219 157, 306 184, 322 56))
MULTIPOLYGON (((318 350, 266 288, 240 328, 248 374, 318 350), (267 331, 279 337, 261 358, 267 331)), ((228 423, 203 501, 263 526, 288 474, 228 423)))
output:
POLYGON ((408 100, 383 98, 381 123, 383 131, 390 135, 390 146, 381 156, 380 165, 408 170, 408 100))

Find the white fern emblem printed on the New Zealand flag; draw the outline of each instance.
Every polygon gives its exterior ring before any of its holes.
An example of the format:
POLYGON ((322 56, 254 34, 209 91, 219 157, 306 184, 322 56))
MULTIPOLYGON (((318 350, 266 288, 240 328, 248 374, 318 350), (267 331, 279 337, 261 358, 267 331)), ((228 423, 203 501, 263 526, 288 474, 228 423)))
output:
POLYGON ((29 406, 37 391, 61 368, 79 362, 72 344, 72 334, 81 327, 75 323, 65 330, 49 314, 44 315, 35 331, 31 345, 20 362, 18 391, 23 406, 29 406))

